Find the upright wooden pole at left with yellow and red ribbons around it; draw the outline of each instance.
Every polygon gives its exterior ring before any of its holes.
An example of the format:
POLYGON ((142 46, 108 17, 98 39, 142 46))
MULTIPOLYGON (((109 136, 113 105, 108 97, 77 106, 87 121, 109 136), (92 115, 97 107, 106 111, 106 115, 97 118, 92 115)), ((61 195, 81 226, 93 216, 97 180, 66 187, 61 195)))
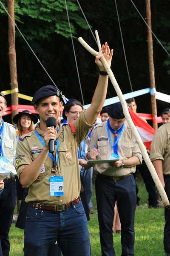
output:
POLYGON ((9 44, 9 68, 11 77, 11 110, 12 118, 18 113, 18 82, 17 82, 17 59, 15 51, 15 17, 14 0, 8 0, 8 44, 9 44), (12 21, 13 20, 13 21, 12 21))

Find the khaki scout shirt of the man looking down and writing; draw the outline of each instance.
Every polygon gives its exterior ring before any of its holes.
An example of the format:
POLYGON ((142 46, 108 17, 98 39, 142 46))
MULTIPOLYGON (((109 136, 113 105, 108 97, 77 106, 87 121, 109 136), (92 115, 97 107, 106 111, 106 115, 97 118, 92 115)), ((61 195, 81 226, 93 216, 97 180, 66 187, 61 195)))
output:
MULTIPOLYGON (((100 155, 97 156, 97 159, 109 159, 112 153, 106 123, 107 121, 96 125, 91 133, 91 142, 88 151, 90 151, 92 148, 94 148, 94 145, 96 145, 96 147, 100 150, 100 155)), ((110 134, 113 144, 114 135, 111 131, 110 134)), ((141 151, 126 121, 124 131, 118 142, 118 155, 120 160, 136 156, 139 158, 140 163, 142 163, 141 151)), ((94 165, 94 170, 96 172, 102 173, 103 175, 124 176, 135 172, 136 166, 132 166, 130 168, 126 168, 126 166, 125 168, 114 168, 112 166, 109 166, 107 163, 103 163, 94 165)))

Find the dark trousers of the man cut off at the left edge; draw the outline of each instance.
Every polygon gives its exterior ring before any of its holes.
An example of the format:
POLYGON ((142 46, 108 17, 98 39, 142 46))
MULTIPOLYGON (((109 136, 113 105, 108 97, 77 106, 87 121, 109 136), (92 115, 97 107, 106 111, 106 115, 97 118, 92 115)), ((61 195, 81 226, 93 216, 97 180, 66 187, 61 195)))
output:
POLYGON ((8 239, 9 229, 16 202, 15 179, 4 184, 4 190, 0 195, 0 240, 3 256, 9 255, 10 243, 8 239))

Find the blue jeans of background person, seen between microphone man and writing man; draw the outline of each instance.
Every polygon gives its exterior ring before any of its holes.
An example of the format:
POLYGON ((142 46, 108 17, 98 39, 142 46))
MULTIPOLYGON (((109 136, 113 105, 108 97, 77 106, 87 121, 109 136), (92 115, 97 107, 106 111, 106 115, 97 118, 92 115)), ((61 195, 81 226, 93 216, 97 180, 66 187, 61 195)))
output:
POLYGON ((93 193, 92 177, 93 177, 93 167, 91 167, 88 170, 83 170, 82 185, 85 189, 85 196, 88 204, 88 210, 92 209, 92 202, 91 202, 91 196, 93 193))

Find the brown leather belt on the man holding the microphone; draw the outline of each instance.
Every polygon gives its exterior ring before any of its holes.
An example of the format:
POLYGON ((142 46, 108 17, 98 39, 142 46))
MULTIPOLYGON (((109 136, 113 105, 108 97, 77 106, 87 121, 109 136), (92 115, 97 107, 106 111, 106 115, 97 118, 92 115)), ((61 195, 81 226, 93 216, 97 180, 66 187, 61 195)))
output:
POLYGON ((72 206, 72 204, 78 204, 81 201, 80 196, 75 198, 73 201, 69 202, 68 204, 59 204, 59 205, 45 205, 45 204, 40 204, 36 202, 30 202, 29 206, 34 207, 35 209, 41 209, 41 210, 47 210, 47 211, 53 211, 53 212, 61 212, 69 207, 72 206))

